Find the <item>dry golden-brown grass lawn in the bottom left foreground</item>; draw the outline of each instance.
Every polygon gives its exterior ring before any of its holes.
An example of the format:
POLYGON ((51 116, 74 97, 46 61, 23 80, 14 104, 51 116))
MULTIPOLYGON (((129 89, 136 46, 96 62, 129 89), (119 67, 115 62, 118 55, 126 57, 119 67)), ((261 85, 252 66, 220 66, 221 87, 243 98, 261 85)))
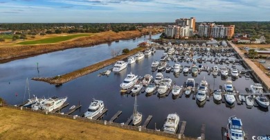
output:
POLYGON ((0 139, 171 139, 0 107, 0 139))

